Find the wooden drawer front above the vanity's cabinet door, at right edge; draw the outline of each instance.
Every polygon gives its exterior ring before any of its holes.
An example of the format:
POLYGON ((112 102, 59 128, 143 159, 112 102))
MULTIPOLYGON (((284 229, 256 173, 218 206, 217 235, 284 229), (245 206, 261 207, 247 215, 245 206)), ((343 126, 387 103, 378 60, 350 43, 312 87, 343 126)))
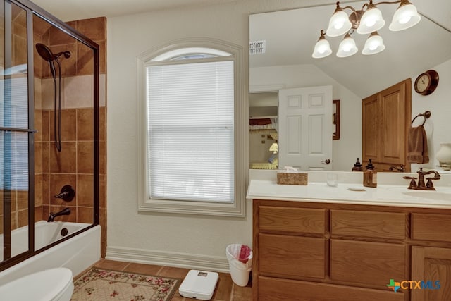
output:
POLYGON ((413 213, 412 239, 451 242, 451 215, 413 213))

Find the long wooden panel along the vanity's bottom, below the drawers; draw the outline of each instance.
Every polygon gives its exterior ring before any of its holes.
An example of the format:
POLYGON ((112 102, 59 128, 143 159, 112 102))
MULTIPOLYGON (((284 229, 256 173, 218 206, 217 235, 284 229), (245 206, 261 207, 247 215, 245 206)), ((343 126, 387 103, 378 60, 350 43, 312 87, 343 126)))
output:
POLYGON ((258 298, 254 297, 254 300, 404 301, 404 293, 393 293, 386 288, 385 290, 371 290, 351 288, 345 285, 259 277, 258 298))

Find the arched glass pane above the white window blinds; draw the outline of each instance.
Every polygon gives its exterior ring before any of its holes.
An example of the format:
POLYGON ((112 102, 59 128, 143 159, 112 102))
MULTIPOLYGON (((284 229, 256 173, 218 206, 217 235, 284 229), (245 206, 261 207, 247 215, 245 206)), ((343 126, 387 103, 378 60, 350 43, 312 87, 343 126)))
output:
POLYGON ((185 59, 206 59, 211 57, 218 57, 218 56, 231 56, 232 54, 218 50, 213 48, 207 48, 207 47, 185 47, 185 48, 179 48, 174 49, 170 51, 166 51, 163 54, 160 54, 159 56, 154 57, 150 61, 157 62, 157 61, 177 61, 177 60, 185 60, 185 59))

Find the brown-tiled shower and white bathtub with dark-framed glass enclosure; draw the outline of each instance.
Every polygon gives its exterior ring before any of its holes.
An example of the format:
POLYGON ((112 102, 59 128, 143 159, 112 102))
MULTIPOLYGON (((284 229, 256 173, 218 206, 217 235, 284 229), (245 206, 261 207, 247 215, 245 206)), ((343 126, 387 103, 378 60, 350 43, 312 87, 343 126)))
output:
MULTIPOLYGON (((106 110, 99 104, 99 44, 30 0, 4 0, 1 7, 0 285, 4 286, 59 266, 78 275, 100 259, 106 237, 99 225, 103 188, 99 179, 105 177, 99 164, 99 121, 106 110), (58 46, 50 41, 59 41, 58 46), (82 51, 82 58, 75 49, 82 51), (78 66, 83 67, 81 72, 78 66), (68 94, 65 106, 65 91, 86 80, 89 87, 68 94), (82 135, 74 133, 77 124, 82 125, 82 135), (78 145, 87 147, 77 152, 78 145), (83 203, 78 204, 74 188, 81 173, 89 176, 82 178, 83 203), (61 183, 66 180, 73 188, 61 183), (21 206, 16 206, 18 197, 21 206), (72 213, 65 215, 69 209, 72 213), (61 233, 63 229, 67 233, 61 233)), ((106 18, 76 22, 83 28, 106 26, 106 18)), ((27 300, 41 297, 37 290, 27 290, 32 293, 27 300)), ((43 293, 42 299, 49 300, 49 291, 43 293)), ((6 299, 0 293, 0 300, 6 299)))

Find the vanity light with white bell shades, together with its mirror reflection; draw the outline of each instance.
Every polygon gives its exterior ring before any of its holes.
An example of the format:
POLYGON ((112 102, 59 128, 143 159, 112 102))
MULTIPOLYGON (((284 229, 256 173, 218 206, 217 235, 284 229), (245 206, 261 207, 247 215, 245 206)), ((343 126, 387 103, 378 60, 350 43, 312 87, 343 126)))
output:
POLYGON ((373 4, 373 0, 369 0, 369 3, 365 3, 360 10, 356 10, 352 6, 340 7, 340 2, 337 2, 337 8, 329 20, 329 26, 324 32, 321 30, 321 35, 316 42, 313 54, 311 55, 315 59, 324 58, 332 53, 330 44, 326 39, 328 37, 338 37, 344 35, 340 46, 338 47, 337 56, 344 58, 356 54, 359 49, 352 39, 351 35, 354 31, 357 31, 360 35, 368 35, 369 37, 365 42, 362 54, 377 54, 383 49, 382 37, 378 34, 385 25, 385 20, 382 18, 381 11, 376 7, 381 4, 400 4, 393 15, 392 23, 388 26, 391 31, 400 31, 410 28, 416 23, 419 23, 421 16, 416 7, 409 2, 409 0, 399 1, 383 1, 373 4), (345 9, 350 9, 352 13, 347 16, 345 9))

